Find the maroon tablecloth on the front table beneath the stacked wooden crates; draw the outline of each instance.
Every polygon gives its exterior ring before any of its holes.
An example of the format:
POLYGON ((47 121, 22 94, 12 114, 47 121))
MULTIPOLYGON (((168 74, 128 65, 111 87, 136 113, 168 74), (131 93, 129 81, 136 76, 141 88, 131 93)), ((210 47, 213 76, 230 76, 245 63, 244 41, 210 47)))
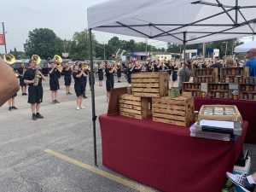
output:
POLYGON ((232 171, 247 131, 236 142, 189 136, 189 128, 124 116, 99 117, 104 166, 161 191, 217 192, 232 171))

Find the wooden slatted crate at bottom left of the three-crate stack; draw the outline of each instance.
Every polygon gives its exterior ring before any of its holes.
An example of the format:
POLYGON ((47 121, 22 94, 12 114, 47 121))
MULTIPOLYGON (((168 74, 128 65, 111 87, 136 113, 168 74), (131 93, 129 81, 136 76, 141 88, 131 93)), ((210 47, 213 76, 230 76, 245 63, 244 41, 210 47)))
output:
POLYGON ((119 96, 119 114, 136 119, 152 117, 152 99, 148 97, 122 95, 119 96))

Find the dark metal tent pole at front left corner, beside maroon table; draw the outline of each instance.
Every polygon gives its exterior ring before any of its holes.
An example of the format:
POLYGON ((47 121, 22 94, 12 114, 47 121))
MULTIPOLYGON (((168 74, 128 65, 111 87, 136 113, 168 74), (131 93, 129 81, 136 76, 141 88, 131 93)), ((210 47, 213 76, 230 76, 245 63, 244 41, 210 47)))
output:
POLYGON ((89 45, 90 45, 90 82, 91 82, 91 108, 92 108, 92 125, 93 125, 93 146, 94 146, 94 164, 97 164, 97 153, 96 153, 96 113, 95 113, 95 90, 94 90, 94 70, 93 70, 93 55, 92 55, 92 34, 89 29, 89 45))

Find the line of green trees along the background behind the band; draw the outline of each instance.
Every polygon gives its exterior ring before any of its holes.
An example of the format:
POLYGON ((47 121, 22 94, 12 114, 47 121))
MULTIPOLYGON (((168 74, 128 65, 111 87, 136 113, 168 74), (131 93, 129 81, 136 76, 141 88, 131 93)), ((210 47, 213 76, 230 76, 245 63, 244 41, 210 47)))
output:
MULTIPOLYGON (((113 59, 113 55, 118 49, 125 49, 126 52, 136 51, 167 51, 170 53, 179 53, 180 46, 177 44, 168 44, 167 49, 157 49, 155 46, 146 44, 145 42, 136 42, 131 39, 129 41, 120 40, 113 37, 108 40, 107 44, 101 44, 92 34, 93 55, 97 59, 113 59), (147 46, 147 48, 146 48, 147 46)), ((220 56, 231 55, 232 49, 242 44, 237 39, 217 41, 207 43, 207 47, 220 49, 220 56)), ((202 48, 202 44, 187 45, 187 49, 202 48)), ((61 53, 69 53, 69 58, 73 60, 89 59, 89 32, 84 29, 82 32, 74 32, 71 40, 61 39, 57 37, 55 32, 48 28, 36 28, 28 33, 28 38, 24 44, 24 52, 16 49, 10 50, 10 53, 16 58, 30 58, 32 55, 40 55, 42 59, 52 59, 53 55, 61 55, 61 53)))

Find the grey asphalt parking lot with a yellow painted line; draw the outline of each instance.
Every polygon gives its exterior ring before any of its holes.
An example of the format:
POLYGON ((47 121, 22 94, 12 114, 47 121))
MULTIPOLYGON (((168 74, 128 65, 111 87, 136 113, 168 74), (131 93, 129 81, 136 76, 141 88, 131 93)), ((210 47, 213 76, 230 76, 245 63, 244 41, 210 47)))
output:
MULTIPOLYGON (((103 83, 105 84, 105 82, 103 83)), ((126 86, 125 79, 115 87, 126 86)), ((0 191, 154 191, 102 166, 102 146, 96 123, 97 156, 94 166, 90 90, 87 87, 85 109, 76 110, 75 94, 66 95, 61 81, 60 103, 52 104, 49 79, 44 81, 44 119, 31 119, 27 96, 18 96, 9 111, 0 108, 0 191)), ((96 114, 106 113, 106 87, 96 81, 96 114)), ((245 144, 256 171, 256 147, 245 144)))

